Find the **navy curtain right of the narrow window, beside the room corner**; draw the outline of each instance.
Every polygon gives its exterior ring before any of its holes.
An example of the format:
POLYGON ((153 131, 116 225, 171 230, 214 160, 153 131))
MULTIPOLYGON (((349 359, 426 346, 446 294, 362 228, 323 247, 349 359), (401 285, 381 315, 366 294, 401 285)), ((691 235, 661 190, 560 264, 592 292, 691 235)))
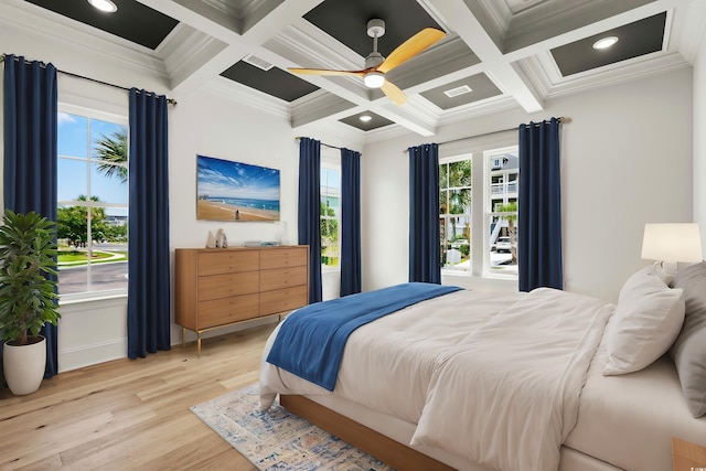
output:
POLYGON ((361 153, 341 149, 341 296, 362 290, 361 153))

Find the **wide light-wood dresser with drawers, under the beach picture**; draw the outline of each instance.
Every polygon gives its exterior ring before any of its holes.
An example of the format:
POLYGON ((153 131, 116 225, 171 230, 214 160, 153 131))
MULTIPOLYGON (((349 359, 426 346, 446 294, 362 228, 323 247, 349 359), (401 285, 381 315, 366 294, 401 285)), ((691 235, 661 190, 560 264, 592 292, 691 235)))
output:
POLYGON ((201 334, 309 302, 309 247, 178 248, 176 323, 201 334))

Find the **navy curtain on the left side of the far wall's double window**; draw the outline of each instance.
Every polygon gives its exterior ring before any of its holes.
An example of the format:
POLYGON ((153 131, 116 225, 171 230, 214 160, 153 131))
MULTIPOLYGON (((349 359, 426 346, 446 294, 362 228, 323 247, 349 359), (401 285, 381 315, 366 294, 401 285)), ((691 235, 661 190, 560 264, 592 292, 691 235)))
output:
POLYGON ((441 283, 439 144, 409 148, 409 281, 441 283))

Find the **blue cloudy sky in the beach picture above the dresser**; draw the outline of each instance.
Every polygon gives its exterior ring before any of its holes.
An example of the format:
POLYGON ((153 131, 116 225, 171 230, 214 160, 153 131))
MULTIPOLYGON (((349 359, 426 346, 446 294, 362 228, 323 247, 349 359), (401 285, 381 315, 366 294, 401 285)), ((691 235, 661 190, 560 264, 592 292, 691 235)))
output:
POLYGON ((279 201, 279 170, 197 156, 199 195, 279 201))

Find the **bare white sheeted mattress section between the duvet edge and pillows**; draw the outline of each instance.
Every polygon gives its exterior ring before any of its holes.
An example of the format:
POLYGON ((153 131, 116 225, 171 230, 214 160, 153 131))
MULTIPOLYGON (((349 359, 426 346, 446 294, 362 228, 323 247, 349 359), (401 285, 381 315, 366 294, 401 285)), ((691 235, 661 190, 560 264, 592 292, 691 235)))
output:
POLYGON ((606 361, 601 345, 565 446, 627 470, 664 471, 672 469, 672 437, 706 443, 706 417, 689 413, 668 355, 621 376, 602 376, 606 361))

